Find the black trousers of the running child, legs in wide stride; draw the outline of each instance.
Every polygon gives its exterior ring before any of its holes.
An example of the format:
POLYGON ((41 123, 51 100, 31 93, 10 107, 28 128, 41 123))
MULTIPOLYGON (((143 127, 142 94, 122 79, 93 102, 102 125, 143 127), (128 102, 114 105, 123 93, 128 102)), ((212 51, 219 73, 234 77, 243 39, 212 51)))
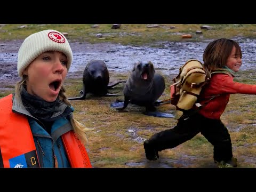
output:
POLYGON ((230 161, 233 157, 230 135, 220 119, 206 118, 198 113, 187 119, 181 116, 173 129, 152 135, 149 145, 157 151, 174 148, 200 133, 214 146, 214 161, 230 161))

